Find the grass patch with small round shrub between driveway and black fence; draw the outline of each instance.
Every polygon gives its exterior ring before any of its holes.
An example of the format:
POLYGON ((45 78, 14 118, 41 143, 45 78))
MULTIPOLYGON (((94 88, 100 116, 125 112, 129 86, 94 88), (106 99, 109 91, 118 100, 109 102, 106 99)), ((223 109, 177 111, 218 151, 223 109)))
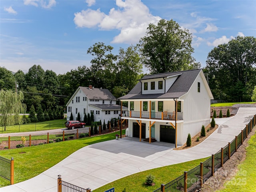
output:
POLYGON ((184 174, 184 171, 189 171, 192 168, 200 165, 200 162, 204 162, 208 158, 193 160, 189 162, 184 162, 180 164, 174 164, 170 166, 164 166, 160 168, 155 168, 147 170, 144 172, 139 172, 121 179, 118 179, 114 182, 106 184, 98 189, 93 190, 93 192, 102 192, 108 190, 112 187, 115 188, 115 191, 121 192, 126 188, 127 192, 139 191, 139 192, 152 192, 157 188, 160 188, 161 184, 166 184, 178 176, 184 174), (155 186, 145 185, 146 176, 152 174, 155 177, 155 186))

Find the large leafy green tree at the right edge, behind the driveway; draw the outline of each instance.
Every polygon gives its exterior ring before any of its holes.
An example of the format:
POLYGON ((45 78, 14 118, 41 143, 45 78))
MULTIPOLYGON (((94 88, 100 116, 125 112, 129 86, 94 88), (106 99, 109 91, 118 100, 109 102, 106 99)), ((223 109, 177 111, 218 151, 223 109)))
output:
POLYGON ((208 54, 204 72, 214 98, 234 102, 250 100, 255 75, 256 38, 236 37, 208 54))

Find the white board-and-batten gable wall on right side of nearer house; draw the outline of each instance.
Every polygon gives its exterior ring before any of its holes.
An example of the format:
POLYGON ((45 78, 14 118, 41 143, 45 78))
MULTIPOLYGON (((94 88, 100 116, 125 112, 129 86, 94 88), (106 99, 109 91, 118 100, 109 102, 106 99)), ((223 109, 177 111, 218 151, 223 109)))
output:
POLYGON ((202 73, 198 75, 187 94, 180 97, 183 103, 183 120, 185 122, 196 122, 210 120, 210 96, 206 90, 202 73), (198 92, 200 82, 200 92, 198 92))

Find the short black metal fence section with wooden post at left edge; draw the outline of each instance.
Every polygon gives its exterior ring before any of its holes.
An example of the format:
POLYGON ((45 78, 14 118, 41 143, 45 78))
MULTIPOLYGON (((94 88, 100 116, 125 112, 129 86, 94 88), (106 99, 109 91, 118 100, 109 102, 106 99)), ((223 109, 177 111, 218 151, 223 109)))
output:
POLYGON ((0 177, 14 183, 14 159, 6 159, 0 156, 0 177))

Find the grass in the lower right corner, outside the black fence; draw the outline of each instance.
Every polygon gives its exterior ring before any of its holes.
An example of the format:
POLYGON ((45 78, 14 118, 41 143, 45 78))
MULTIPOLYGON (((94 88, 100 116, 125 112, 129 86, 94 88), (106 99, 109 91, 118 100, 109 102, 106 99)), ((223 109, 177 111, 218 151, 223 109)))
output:
POLYGON ((218 192, 252 192, 256 190, 256 132, 248 141, 249 146, 246 148, 246 159, 238 166, 238 172, 232 180, 224 184, 223 190, 218 192))

